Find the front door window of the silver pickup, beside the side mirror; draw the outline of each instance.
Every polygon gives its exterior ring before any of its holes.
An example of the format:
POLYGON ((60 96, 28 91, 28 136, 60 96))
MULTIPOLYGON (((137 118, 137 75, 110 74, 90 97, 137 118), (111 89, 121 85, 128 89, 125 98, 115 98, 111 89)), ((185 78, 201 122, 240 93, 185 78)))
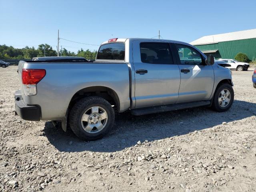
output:
POLYGON ((182 65, 201 65, 203 64, 201 54, 192 47, 176 44, 176 51, 182 65))

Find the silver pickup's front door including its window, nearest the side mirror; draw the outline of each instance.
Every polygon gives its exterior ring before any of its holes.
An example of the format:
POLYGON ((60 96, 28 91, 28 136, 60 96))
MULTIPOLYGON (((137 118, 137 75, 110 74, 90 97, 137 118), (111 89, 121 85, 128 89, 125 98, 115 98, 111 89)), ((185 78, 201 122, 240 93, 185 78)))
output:
POLYGON ((214 86, 214 70, 204 65, 204 58, 196 49, 173 44, 180 68, 180 90, 177 103, 208 100, 214 86))

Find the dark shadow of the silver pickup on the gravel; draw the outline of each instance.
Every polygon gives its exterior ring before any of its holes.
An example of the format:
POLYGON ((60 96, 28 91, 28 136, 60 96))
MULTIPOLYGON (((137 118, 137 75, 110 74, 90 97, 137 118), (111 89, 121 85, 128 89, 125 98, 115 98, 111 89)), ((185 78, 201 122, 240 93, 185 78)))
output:
MULTIPOLYGON (((132 116, 129 112, 116 116, 113 130, 94 142, 78 139, 71 130, 63 132, 46 122, 44 135, 61 152, 115 152, 148 140, 179 136, 256 115, 256 104, 235 100, 228 112, 218 113, 209 108, 192 108, 144 116, 132 116), (72 141, 72 142, 70 142, 72 141)), ((229 125, 226 125, 229 126, 229 125)))

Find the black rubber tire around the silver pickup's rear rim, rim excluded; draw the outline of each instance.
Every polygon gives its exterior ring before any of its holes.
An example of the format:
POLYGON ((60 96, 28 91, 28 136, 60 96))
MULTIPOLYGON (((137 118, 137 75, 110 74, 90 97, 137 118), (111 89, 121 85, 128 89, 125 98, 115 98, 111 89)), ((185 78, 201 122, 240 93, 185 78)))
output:
POLYGON ((103 136, 108 134, 108 132, 110 132, 114 124, 115 115, 111 104, 107 100, 98 96, 88 96, 82 98, 81 100, 76 102, 76 104, 74 104, 70 111, 69 118, 70 128, 72 129, 74 134, 76 134, 76 136, 78 136, 82 140, 92 141, 102 138, 103 136), (100 132, 88 133, 82 127, 81 120, 86 110, 93 106, 99 106, 103 108, 108 115, 108 121, 106 123, 106 126, 100 132))

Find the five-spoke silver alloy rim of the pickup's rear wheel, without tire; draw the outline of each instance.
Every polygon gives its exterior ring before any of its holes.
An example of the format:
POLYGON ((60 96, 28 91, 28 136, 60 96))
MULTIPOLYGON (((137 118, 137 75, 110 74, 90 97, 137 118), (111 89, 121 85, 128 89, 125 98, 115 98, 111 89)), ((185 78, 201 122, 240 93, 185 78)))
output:
POLYGON ((82 127, 88 133, 98 133, 106 126, 108 114, 102 107, 94 106, 86 110, 82 116, 82 127))

